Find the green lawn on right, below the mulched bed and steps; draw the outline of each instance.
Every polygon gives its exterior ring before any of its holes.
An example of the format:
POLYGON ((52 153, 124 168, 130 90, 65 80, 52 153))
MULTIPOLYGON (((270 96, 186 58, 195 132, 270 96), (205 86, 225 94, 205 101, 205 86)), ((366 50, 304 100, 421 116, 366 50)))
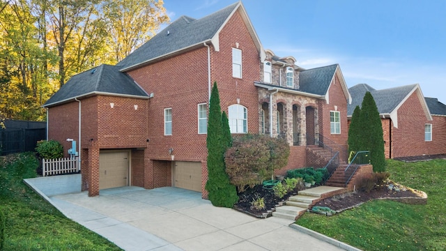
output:
POLYGON ((446 160, 387 160, 390 179, 428 195, 427 205, 369 201, 326 217, 305 213, 298 225, 362 250, 446 250, 446 160))

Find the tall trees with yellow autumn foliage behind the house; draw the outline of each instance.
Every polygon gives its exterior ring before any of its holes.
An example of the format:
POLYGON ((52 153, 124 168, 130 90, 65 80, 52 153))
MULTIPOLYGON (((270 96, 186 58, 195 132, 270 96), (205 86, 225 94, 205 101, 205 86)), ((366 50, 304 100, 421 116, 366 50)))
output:
POLYGON ((168 22, 163 4, 0 0, 0 119, 44 120, 41 105, 72 75, 117 63, 168 22), (130 15, 133 20, 128 20, 130 15), (116 36, 118 29, 128 36, 116 36), (131 40, 137 43, 116 56, 115 47, 131 40))

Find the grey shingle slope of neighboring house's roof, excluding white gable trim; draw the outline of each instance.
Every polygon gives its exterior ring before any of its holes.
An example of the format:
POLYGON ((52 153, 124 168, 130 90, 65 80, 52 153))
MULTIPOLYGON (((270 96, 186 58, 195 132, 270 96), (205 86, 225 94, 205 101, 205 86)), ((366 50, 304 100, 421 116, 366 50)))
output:
POLYGON ((417 84, 410 84, 406 86, 399 86, 390 89, 375 90, 368 84, 357 84, 348 89, 350 92, 352 102, 347 105, 347 115, 353 115, 355 107, 361 107, 362 100, 367 91, 370 91, 371 96, 374 97, 376 107, 380 114, 390 114, 403 101, 406 96, 412 91, 417 84))

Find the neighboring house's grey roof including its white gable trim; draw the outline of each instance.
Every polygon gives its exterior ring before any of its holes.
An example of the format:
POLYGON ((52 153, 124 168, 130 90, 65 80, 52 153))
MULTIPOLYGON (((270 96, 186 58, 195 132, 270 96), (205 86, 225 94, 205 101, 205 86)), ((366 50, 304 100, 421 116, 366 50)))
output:
POLYGON ((374 97, 376 107, 380 116, 387 116, 392 119, 395 128, 398 128, 398 109, 409 98, 412 93, 416 92, 421 102, 426 119, 432 120, 429 107, 422 96, 419 84, 409 84, 406 86, 398 86, 389 89, 376 90, 368 84, 357 84, 348 89, 353 98, 350 105, 347 105, 347 116, 351 117, 356 106, 361 107, 365 93, 369 91, 374 97))

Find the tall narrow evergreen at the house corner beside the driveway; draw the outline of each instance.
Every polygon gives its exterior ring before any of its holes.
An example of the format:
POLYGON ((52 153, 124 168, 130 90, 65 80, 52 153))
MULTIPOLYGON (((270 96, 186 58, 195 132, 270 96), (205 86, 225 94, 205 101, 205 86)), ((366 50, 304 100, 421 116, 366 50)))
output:
POLYGON ((238 201, 238 196, 236 186, 230 183, 224 165, 224 152, 230 142, 227 136, 228 132, 226 132, 229 129, 229 124, 227 126, 223 125, 224 117, 226 117, 226 114, 221 112, 217 82, 214 82, 209 100, 208 137, 206 138, 208 148, 206 190, 208 191, 208 198, 214 206, 232 208, 238 201))

